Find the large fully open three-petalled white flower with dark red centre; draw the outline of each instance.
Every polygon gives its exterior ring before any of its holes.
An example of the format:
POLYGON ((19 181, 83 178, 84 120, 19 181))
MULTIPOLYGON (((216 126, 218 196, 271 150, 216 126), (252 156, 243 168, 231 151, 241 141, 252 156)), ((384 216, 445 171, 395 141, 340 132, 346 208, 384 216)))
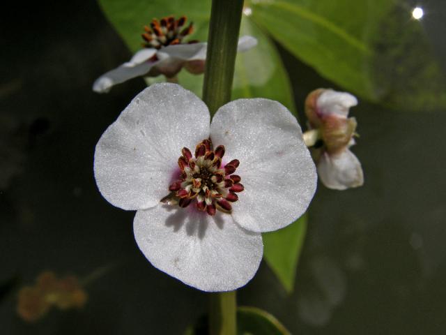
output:
POLYGON ((107 128, 94 171, 104 198, 137 210, 134 237, 146 258, 204 291, 245 285, 261 262, 261 232, 300 217, 317 178, 280 103, 232 101, 210 124, 203 101, 171 83, 142 91, 107 128))

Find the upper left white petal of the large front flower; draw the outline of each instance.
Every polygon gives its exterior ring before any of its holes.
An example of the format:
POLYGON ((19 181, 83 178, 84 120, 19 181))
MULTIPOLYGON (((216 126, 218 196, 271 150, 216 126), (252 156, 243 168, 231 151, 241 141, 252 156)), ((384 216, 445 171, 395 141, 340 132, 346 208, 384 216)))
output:
POLYGON ((177 84, 144 89, 96 145, 100 193, 122 209, 155 206, 169 193, 181 149, 208 137, 209 119, 203 101, 177 84))

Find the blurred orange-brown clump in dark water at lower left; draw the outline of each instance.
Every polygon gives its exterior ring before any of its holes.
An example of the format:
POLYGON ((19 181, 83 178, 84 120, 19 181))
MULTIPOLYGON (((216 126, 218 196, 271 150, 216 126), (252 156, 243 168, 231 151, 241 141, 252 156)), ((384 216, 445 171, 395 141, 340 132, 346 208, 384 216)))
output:
POLYGON ((86 299, 86 292, 76 277, 57 278, 54 272, 45 271, 38 276, 36 285, 19 291, 17 313, 25 321, 34 322, 46 315, 53 305, 62 310, 81 308, 86 299))

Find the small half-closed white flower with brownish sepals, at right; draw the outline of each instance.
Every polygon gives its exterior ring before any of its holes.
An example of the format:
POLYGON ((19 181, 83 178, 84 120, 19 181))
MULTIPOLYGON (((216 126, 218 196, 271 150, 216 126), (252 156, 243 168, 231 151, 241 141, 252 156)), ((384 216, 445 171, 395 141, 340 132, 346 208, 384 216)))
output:
POLYGON ((361 163, 349 149, 355 144, 357 123, 354 117, 348 118, 348 111, 355 105, 355 96, 332 89, 316 89, 305 101, 313 130, 306 133, 305 140, 317 148, 318 174, 328 188, 345 190, 364 184, 361 163))

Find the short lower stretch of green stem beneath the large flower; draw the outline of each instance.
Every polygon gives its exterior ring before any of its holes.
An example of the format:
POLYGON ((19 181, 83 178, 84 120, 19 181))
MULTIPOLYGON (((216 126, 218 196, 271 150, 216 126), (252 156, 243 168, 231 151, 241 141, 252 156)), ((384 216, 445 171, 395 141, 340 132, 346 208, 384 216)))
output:
POLYGON ((212 293, 209 305, 209 334, 235 335, 236 312, 236 291, 212 293))

